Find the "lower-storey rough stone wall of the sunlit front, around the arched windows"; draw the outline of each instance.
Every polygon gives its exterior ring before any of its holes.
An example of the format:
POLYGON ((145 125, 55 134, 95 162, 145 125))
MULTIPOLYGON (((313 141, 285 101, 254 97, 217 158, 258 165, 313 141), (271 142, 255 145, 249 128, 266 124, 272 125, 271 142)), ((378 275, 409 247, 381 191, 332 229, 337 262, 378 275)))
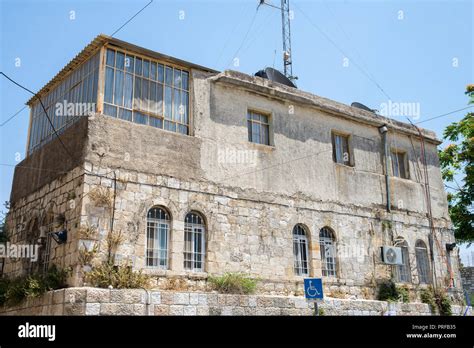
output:
MULTIPOLYGON (((86 165, 88 167, 88 165, 86 165)), ((110 168, 92 171, 107 172, 110 168)), ((373 299, 376 284, 390 279, 391 266, 382 263, 380 247, 402 236, 408 242, 411 274, 417 284, 415 250, 417 239, 428 245, 428 228, 423 218, 394 213, 393 221, 383 211, 367 208, 347 210, 344 206, 314 202, 306 197, 240 191, 205 182, 183 181, 159 175, 117 170, 114 228, 125 232, 126 240, 117 251, 119 260, 145 267, 146 215, 153 206, 166 208, 172 218, 170 269, 146 269, 156 276, 185 276, 204 280, 208 274, 244 272, 261 279, 261 291, 301 294, 303 277, 293 271, 293 226, 303 224, 310 234, 310 276, 320 277, 319 230, 328 226, 337 240, 337 278, 325 278, 327 293, 347 298, 373 299), (184 219, 188 212, 200 212, 206 222, 206 262, 204 272, 183 269, 184 219), (387 227, 390 225, 391 227, 387 227)), ((108 178, 85 175, 84 192, 102 186, 112 190, 108 178)), ((97 208, 90 196, 84 198, 83 220, 98 226, 105 235, 110 211, 97 208)), ((438 232, 442 243, 446 235, 438 232)), ((444 259, 436 253, 438 280, 447 275, 444 259), (441 267, 441 268, 440 268, 441 267)), ((455 273, 456 275, 456 273, 455 273)), ((166 282, 158 286, 166 288, 166 282)), ((199 286, 199 285, 193 285, 199 286)), ((414 291, 418 286, 407 284, 414 291)), ((421 285, 420 287, 424 287, 421 285)), ((202 288, 202 287, 201 287, 202 288)), ((413 294, 416 299, 416 294, 413 294)))

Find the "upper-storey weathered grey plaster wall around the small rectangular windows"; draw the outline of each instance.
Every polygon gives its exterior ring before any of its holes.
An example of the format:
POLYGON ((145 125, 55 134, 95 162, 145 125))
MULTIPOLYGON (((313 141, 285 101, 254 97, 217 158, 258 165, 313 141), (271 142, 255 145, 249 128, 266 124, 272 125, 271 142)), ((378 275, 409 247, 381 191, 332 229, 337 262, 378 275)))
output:
MULTIPOLYGON (((210 180, 242 188, 282 194, 303 193, 315 200, 338 201, 347 205, 383 206, 386 202, 383 147, 376 127, 349 121, 292 102, 275 100, 253 92, 208 81, 196 82, 210 99, 210 110, 196 112, 203 138, 201 166, 210 180), (228 101, 228 102, 226 102, 228 101), (231 101, 231 102, 230 102, 231 101), (271 115, 272 146, 248 142, 247 110, 271 115), (293 113, 291 113, 292 111, 293 113), (354 167, 332 160, 331 131, 351 136, 354 167), (212 140, 209 140, 212 139, 212 140), (225 163, 219 152, 226 149, 257 153, 254 163, 225 163)), ((199 103, 199 105, 207 105, 199 103)), ((196 108, 199 108, 199 105, 196 108)), ((196 110, 198 111, 198 110, 196 110)), ((419 141, 389 135, 389 145, 408 153, 410 180, 392 178, 391 200, 402 210, 426 212, 419 175, 419 141)), ((433 214, 447 218, 444 186, 439 174, 436 147, 426 144, 433 214), (441 193, 441 194, 440 194, 441 193)))

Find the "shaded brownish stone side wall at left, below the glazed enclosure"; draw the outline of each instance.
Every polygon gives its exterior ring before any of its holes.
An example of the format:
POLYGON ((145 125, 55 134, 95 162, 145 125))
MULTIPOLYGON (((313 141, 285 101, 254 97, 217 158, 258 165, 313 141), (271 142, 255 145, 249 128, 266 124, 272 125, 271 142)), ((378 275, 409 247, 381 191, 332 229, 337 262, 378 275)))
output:
POLYGON ((6 276, 41 271, 45 257, 45 236, 53 230, 67 229, 68 239, 61 245, 51 240, 50 264, 68 267, 77 262, 77 230, 80 225, 83 180, 82 168, 76 167, 15 202, 6 219, 9 243, 38 245, 39 255, 35 262, 28 258, 5 259, 3 273, 6 276), (61 222, 62 218, 64 222, 61 222))

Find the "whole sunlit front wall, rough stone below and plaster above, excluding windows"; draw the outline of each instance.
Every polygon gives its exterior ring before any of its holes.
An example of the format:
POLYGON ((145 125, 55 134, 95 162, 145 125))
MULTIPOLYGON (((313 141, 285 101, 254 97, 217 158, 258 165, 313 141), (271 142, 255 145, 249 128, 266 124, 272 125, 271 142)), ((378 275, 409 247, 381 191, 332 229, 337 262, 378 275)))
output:
MULTIPOLYGON (((391 267, 382 264, 379 248, 392 245, 399 236, 408 242, 410 251, 413 284, 407 286, 414 292, 423 287, 415 285, 414 245, 417 239, 429 245, 429 224, 417 139, 390 135, 391 146, 408 152, 410 180, 391 179, 394 209, 388 214, 377 127, 241 87, 238 81, 230 88, 212 82, 207 74, 194 72, 192 136, 103 115, 87 120, 83 163, 87 173, 82 183, 73 185, 78 190, 75 204, 79 212, 67 209, 67 191, 56 192, 55 184, 33 194, 46 195, 44 204, 39 205, 43 211, 53 196, 62 195, 59 204, 64 207, 57 212, 69 211, 67 223, 74 226, 66 244, 70 250, 57 261, 75 266, 72 284, 82 285, 78 249, 91 244, 80 239, 74 229, 95 226, 103 243, 111 227, 112 209, 90 195, 101 188, 108 195, 116 194, 114 230, 125 236, 117 259, 129 260, 136 269, 145 266, 148 209, 162 206, 170 212, 170 269, 146 270, 160 277, 160 287, 167 286, 163 277, 189 278, 194 281, 192 286, 200 287, 208 274, 245 272, 262 279, 261 291, 300 294, 302 277, 293 272, 292 229, 297 223, 309 232, 311 276, 321 276, 320 229, 327 226, 334 231, 338 275, 324 280, 327 293, 373 299, 376 284, 391 277, 391 267), (290 114, 291 106, 294 113, 290 114), (272 146, 247 141, 248 109, 271 114, 272 146), (334 129, 350 134, 354 167, 333 162, 330 135, 334 129), (236 151, 246 156, 244 160, 231 155, 236 151), (184 218, 193 210, 206 220, 206 262, 201 273, 183 269, 184 218)), ((426 151, 441 246, 438 248, 437 243, 433 250, 434 265, 438 283, 445 284, 442 246, 453 242, 454 237, 433 141, 427 142, 426 151)), ((32 205, 23 211, 20 206, 12 211, 11 218, 16 219, 12 226, 31 214, 32 205)), ((453 262, 456 284, 460 284, 457 267, 453 262)), ((416 299, 416 294, 413 296, 416 299)))

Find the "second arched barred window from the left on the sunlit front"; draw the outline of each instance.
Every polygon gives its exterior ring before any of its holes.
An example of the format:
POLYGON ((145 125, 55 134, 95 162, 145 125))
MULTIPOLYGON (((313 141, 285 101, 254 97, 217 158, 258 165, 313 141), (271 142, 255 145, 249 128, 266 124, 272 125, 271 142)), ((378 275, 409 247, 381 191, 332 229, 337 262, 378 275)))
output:
POLYGON ((204 271, 206 225, 198 213, 191 212, 184 221, 184 269, 204 271))

